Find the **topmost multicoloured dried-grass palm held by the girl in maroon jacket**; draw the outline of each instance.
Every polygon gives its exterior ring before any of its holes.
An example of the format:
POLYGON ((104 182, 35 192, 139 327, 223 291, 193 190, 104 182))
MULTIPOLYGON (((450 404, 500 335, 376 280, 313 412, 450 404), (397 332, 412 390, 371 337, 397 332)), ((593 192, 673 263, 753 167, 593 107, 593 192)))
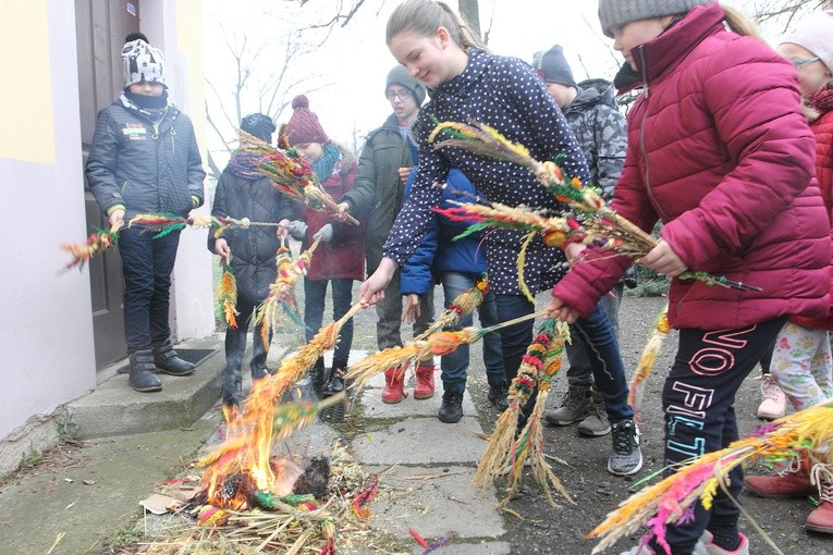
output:
MULTIPOLYGON (((645 248, 641 250, 645 254, 657 246, 657 238, 617 214, 604 202, 598 189, 592 186, 583 185, 577 177, 567 178, 556 162, 539 162, 530 156, 526 147, 510 141, 493 127, 475 121, 468 124, 443 122, 433 128, 428 137, 428 141, 434 143, 441 133, 446 133, 451 138, 438 141, 433 148, 456 147, 495 160, 522 165, 532 172, 536 180, 556 200, 567 202, 573 211, 579 215, 592 217, 592 219, 598 221, 598 224, 595 225, 608 227, 608 236, 618 236, 623 239, 627 237, 629 243, 642 244, 645 248)), ((585 224, 585 226, 587 227, 588 225, 585 224)), ((599 249, 588 250, 590 252, 585 255, 585 261, 591 261, 591 255, 599 252, 599 249)), ((607 256, 603 255, 602 258, 607 258, 607 256)), ((682 273, 679 279, 699 280, 708 285, 721 285, 739 291, 761 291, 760 287, 736 282, 725 276, 695 270, 682 273)))

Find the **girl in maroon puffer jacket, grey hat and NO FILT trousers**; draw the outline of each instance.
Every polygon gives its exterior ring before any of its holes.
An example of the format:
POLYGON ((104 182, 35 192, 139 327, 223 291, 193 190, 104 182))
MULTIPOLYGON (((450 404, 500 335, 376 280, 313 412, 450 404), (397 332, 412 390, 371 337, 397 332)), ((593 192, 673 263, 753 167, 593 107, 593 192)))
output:
MULTIPOLYGON (((627 62, 614 83, 622 91, 645 87, 628 113, 613 208, 645 231, 664 224, 641 261, 673 278, 669 321, 679 345, 662 403, 665 464, 675 465, 737 440, 737 388, 788 314, 828 313, 830 224, 795 72, 744 36, 743 17, 709 0, 601 0, 599 18, 627 62), (679 280, 687 269, 761 291, 679 280)), ((574 267, 552 292, 551 313, 572 321, 591 310, 629 263, 574 267)), ((736 499, 739 467, 730 479, 736 499)), ((719 491, 708 510, 695 505, 685 525, 667 529, 675 555, 698 541, 709 553, 749 552, 727 495, 719 491)), ((651 542, 629 553, 660 548, 651 542)))

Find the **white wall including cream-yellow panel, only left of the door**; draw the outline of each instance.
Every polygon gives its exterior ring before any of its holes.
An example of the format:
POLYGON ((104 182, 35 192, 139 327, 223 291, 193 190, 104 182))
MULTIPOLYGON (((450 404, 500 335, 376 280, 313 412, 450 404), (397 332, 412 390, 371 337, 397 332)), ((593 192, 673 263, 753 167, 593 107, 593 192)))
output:
POLYGON ((61 0, 0 3, 0 66, 15 84, 0 87, 0 470, 54 435, 44 416, 96 386, 89 281, 59 274, 59 245, 87 235, 74 13, 61 0))

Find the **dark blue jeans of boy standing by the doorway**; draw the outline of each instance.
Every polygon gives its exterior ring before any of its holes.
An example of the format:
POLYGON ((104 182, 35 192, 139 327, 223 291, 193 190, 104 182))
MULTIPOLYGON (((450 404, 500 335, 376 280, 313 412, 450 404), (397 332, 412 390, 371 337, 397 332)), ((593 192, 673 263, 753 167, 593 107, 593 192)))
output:
POLYGON ((171 336, 171 272, 180 232, 158 239, 156 232, 133 225, 119 234, 124 272, 124 338, 127 353, 160 347, 171 336))

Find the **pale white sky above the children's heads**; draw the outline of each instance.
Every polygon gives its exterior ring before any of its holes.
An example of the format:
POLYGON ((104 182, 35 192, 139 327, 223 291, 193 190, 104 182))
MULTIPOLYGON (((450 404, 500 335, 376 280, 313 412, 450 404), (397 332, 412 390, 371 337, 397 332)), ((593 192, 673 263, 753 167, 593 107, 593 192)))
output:
MULTIPOLYGON (((455 0, 448 1, 456 8, 455 0)), ((283 63, 287 33, 326 21, 332 16, 334 5, 353 2, 307 0, 302 7, 290 0, 204 0, 209 111, 217 113, 220 109, 215 89, 225 98, 226 107, 232 106, 230 92, 236 70, 226 40, 241 44, 245 37, 249 46, 265 46, 255 65, 253 84, 285 66, 284 83, 295 84, 286 101, 296 94, 306 94, 327 134, 358 149, 363 137, 391 113, 383 96, 384 81, 396 61, 384 44, 384 27, 400 0, 365 0, 345 27, 334 26, 329 34, 305 33, 295 44, 306 45, 310 52, 283 63)), ((531 61, 535 52, 561 44, 576 82, 590 77, 612 81, 622 58, 613 50, 612 39, 602 35, 597 10, 596 0, 480 0, 480 26, 483 33, 489 32, 489 48, 494 53, 531 61)), ((255 111, 260 111, 257 101, 244 95, 243 114, 255 111)), ((286 122, 290 115, 287 108, 279 123, 286 122)), ((226 140, 233 138, 231 122, 225 123, 222 133, 228 134, 226 140)), ((218 145, 222 146, 219 137, 209 138, 210 149, 216 150, 218 145)))

